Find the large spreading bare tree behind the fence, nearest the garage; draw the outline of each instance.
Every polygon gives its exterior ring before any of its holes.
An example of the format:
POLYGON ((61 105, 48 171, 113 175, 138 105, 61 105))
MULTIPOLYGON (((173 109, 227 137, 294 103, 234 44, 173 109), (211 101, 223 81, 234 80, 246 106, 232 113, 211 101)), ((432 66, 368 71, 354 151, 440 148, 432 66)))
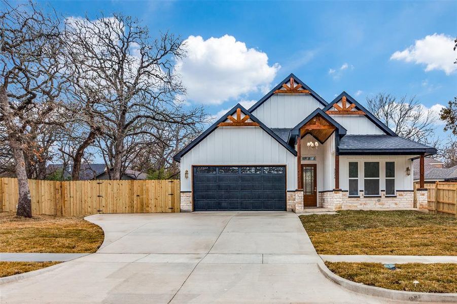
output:
POLYGON ((96 88, 93 113, 102 124, 97 144, 111 179, 120 179, 142 147, 160 142, 164 129, 184 125, 195 128, 205 115, 202 108, 185 109, 179 96, 185 92, 174 59, 184 56, 179 37, 164 33, 151 40, 147 28, 131 17, 115 14, 91 21, 67 19, 69 42, 79 68, 96 88))

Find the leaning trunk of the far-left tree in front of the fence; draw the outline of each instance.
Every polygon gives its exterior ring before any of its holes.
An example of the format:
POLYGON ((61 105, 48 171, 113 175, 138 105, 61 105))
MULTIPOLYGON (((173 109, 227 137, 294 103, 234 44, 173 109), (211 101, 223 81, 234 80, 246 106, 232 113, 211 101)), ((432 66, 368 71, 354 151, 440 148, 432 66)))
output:
POLYGON ((17 216, 32 217, 32 204, 30 199, 30 189, 28 187, 27 171, 25 169, 24 147, 22 146, 15 128, 14 114, 8 103, 8 95, 5 87, 0 88, 0 108, 3 114, 8 141, 13 150, 13 158, 16 162, 16 177, 19 186, 19 200, 17 203, 17 216))

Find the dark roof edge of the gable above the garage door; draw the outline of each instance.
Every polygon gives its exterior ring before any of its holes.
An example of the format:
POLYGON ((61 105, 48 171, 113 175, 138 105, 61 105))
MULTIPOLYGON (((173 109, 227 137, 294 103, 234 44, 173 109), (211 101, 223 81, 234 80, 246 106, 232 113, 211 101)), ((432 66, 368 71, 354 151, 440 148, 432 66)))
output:
MULTIPOLYGON (((191 150, 194 146, 196 146, 200 141, 206 138, 209 134, 211 134, 216 128, 218 128, 218 125, 220 123, 223 123, 227 120, 227 116, 233 115, 237 109, 241 109, 241 112, 244 115, 249 115, 249 119, 257 124, 259 124, 259 127, 267 132, 271 137, 273 137, 278 143, 280 143, 282 146, 284 146, 286 149, 289 150, 290 153, 292 153, 294 156, 297 156, 297 151, 288 145, 284 140, 282 140, 279 136, 277 136, 273 131, 271 131, 270 128, 265 126, 260 120, 258 120, 250 111, 245 109, 241 104, 236 104, 233 108, 231 108, 225 115, 223 115, 217 122, 215 122, 213 125, 211 125, 208 129, 206 129, 203 133, 200 134, 197 138, 192 140, 187 146, 185 146, 179 153, 175 156, 173 156, 173 160, 180 162, 181 157, 188 153, 189 150, 191 150)), ((236 128, 236 127, 230 127, 230 128, 236 128)))

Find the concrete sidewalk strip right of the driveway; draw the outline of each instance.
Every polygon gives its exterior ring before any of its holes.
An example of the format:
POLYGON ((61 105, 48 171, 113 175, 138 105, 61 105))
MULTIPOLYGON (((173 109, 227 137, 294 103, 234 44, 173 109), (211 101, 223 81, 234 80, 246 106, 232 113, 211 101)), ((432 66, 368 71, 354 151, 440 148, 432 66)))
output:
POLYGON ((329 262, 367 262, 367 263, 457 263, 457 256, 447 255, 326 255, 321 254, 324 261, 329 262))

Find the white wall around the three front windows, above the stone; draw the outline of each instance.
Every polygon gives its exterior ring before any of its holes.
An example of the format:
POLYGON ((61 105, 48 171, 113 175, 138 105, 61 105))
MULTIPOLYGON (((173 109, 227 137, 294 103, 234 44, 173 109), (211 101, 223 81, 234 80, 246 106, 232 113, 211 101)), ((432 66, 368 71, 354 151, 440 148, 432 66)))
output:
POLYGON ((379 189, 385 190, 385 162, 395 162, 395 189, 413 190, 412 179, 412 161, 410 158, 414 156, 405 155, 392 155, 392 156, 340 156, 340 170, 339 170, 339 184, 343 191, 349 190, 349 162, 359 162, 359 191, 364 190, 364 162, 379 162, 379 176, 380 186, 379 189), (411 174, 406 174, 406 168, 409 167, 411 174))

